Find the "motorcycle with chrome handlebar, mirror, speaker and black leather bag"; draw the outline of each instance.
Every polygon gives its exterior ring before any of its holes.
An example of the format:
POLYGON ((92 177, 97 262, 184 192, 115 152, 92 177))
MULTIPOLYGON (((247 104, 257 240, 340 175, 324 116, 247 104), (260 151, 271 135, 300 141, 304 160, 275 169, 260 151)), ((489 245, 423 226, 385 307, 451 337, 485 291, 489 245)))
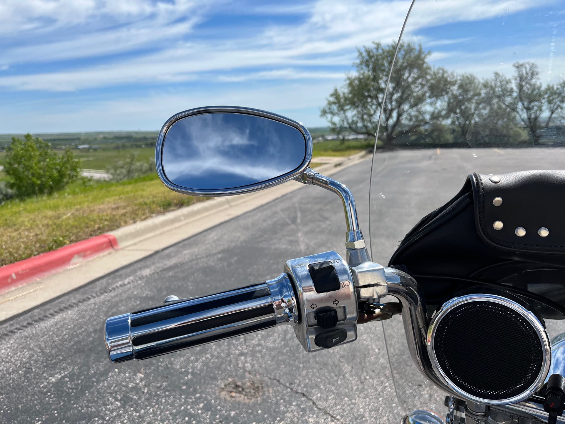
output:
POLYGON ((337 194, 346 257, 331 251, 289 259, 264 282, 168 296, 163 305, 108 318, 111 362, 280 325, 293 327, 306 352, 338 353, 357 340, 358 325, 381 321, 386 334, 388 322, 401 318, 405 351, 447 393, 445 420, 414 410, 403 422, 565 423, 565 337, 550 341, 546 324, 565 318, 552 289, 565 276, 556 212, 565 172, 469 175, 384 266, 371 260, 350 190, 309 167, 312 137, 300 123, 245 107, 191 109, 164 124, 155 157, 163 184, 192 196, 233 196, 291 180, 337 194), (524 199, 555 204, 524 207, 524 199))

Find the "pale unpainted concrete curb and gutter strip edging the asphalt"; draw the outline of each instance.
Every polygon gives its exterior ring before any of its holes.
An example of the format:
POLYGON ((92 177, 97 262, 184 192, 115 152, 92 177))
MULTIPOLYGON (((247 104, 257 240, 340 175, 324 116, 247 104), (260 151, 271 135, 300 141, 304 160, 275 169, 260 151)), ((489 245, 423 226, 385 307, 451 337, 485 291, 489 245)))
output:
MULTIPOLYGON (((340 160, 316 167, 316 171, 329 176, 368 157, 366 152, 361 152, 349 158, 337 158, 340 160)), ((118 240, 118 250, 108 250, 93 259, 0 294, 0 321, 301 187, 306 186, 289 181, 260 192, 218 197, 111 231, 108 234, 118 240)))

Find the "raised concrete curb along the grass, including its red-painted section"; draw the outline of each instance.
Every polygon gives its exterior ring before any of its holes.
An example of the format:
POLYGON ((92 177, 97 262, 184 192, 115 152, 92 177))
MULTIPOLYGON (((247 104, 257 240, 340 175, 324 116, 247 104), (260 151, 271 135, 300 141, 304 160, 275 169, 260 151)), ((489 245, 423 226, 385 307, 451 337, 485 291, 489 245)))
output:
MULTIPOLYGON (((316 170, 320 174, 331 175, 333 172, 340 170, 342 166, 359 161, 366 155, 367 152, 360 152, 344 158, 342 161, 322 165, 316 168, 316 170)), ((295 187, 290 189, 290 191, 300 187, 300 184, 295 184, 295 187)), ((277 197, 289 192, 288 186, 281 189, 281 185, 269 190, 277 192, 277 197)), ((229 209, 241 205, 243 202, 263 196, 265 196, 265 192, 254 192, 236 197, 216 197, 211 200, 197 202, 196 204, 136 222, 87 240, 69 244, 51 252, 2 266, 0 267, 0 294, 37 279, 45 278, 63 269, 79 265, 110 250, 119 250, 140 243, 140 241, 154 237, 159 233, 173 230, 176 227, 202 218, 212 211, 214 213, 225 211, 226 214, 229 214, 229 209)))

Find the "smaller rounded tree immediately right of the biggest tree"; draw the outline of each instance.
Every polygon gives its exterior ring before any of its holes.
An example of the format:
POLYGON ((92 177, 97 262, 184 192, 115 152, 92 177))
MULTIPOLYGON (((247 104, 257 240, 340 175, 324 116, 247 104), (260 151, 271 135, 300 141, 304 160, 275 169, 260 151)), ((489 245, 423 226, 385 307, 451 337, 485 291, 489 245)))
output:
POLYGON ((463 140, 468 140, 477 111, 483 106, 483 84, 471 73, 450 75, 451 90, 447 94, 447 114, 463 140))

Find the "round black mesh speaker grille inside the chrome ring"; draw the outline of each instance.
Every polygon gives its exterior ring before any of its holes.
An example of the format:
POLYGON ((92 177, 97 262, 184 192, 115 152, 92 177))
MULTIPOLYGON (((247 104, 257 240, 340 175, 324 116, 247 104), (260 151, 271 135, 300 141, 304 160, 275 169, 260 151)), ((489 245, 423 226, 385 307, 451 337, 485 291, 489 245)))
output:
POLYGON ((437 324, 434 353, 455 386, 481 399, 510 399, 541 373, 543 351, 531 323, 508 306, 467 302, 437 324))

